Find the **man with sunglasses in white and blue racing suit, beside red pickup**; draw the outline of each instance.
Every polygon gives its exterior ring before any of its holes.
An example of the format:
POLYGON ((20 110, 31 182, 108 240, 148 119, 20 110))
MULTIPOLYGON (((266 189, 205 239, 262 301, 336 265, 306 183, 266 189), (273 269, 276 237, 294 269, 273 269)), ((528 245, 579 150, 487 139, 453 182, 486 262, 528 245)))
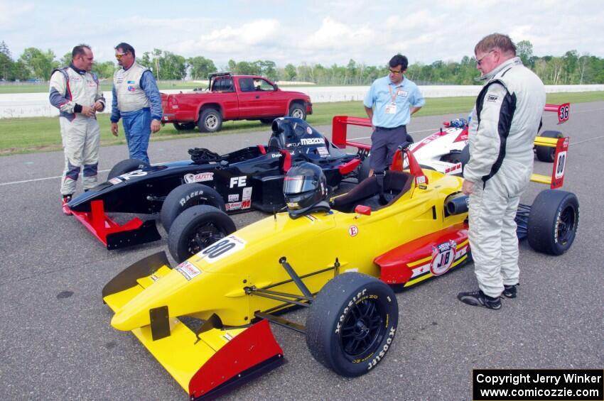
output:
POLYGON ((161 94, 151 70, 136 63, 131 45, 119 43, 115 57, 122 69, 113 76, 111 132, 117 136, 122 118, 129 158, 149 163, 149 137, 161 128, 161 94))

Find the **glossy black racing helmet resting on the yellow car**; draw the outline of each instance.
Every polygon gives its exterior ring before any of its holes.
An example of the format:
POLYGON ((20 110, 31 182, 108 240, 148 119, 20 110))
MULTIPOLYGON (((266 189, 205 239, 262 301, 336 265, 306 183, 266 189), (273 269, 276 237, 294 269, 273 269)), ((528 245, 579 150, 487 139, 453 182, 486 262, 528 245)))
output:
POLYGON ((318 165, 302 163, 291 167, 283 182, 283 194, 289 216, 299 216, 320 210, 328 211, 327 180, 318 165))

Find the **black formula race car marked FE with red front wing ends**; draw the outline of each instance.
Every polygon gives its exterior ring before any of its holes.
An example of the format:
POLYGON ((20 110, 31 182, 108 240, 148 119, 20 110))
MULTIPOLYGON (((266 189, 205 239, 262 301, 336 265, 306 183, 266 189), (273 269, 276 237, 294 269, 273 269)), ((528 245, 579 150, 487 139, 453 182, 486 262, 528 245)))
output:
MULTIPOLYGON (((362 151, 344 153, 306 121, 290 117, 273 122, 267 145, 225 155, 194 148, 189 154, 190 160, 161 165, 134 159, 117 163, 107 182, 72 199, 72 214, 108 249, 123 248, 161 238, 156 221, 136 217, 118 224, 107 212, 159 213, 166 232, 176 216, 198 204, 229 214, 251 209, 277 212, 285 206, 283 180, 291 165, 319 165, 328 185, 335 188, 343 179, 356 176, 364 156, 362 151)), ((230 219, 223 220, 225 226, 217 227, 217 234, 235 231, 230 219)))

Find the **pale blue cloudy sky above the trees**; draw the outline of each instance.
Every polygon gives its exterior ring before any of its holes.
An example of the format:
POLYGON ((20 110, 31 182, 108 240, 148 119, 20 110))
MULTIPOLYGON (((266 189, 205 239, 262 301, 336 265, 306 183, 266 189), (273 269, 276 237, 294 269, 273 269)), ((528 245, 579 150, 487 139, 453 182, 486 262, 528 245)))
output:
POLYGON ((411 63, 459 61, 493 32, 530 40, 535 55, 577 50, 604 57, 602 0, 0 0, 0 41, 13 57, 28 47, 63 56, 78 43, 97 61, 130 43, 203 55, 217 67, 236 61, 383 65, 402 53, 411 63))

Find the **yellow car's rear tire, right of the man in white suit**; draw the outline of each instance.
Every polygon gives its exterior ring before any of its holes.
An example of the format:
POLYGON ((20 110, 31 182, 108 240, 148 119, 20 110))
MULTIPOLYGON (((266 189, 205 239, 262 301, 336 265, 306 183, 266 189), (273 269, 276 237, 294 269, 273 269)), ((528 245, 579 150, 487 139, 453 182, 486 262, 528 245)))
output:
POLYGON ((528 240, 535 251, 561 255, 571 247, 579 223, 575 194, 545 189, 535 198, 529 214, 528 240))

